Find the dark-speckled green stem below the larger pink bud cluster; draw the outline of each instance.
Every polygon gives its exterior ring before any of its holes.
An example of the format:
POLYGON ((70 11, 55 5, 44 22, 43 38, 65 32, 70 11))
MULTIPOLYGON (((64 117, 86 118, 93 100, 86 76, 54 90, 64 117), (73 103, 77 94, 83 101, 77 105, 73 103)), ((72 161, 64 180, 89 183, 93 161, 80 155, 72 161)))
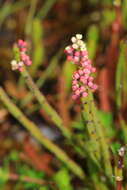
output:
MULTIPOLYGON (((90 138, 92 140, 93 147, 96 145, 96 150, 100 152, 100 147, 102 150, 102 155, 104 159, 105 171, 106 174, 109 176, 112 175, 112 167, 110 163, 110 155, 109 155, 109 148, 104 136, 104 129, 102 128, 102 124, 99 121, 96 115, 96 107, 93 100, 93 95, 88 89, 88 97, 83 99, 83 115, 88 119, 87 128, 89 131, 90 138), (91 127, 90 127, 91 124, 91 127), (99 145, 100 147, 99 147, 99 145)), ((97 155, 98 156, 98 155, 97 155)), ((99 157, 98 157, 99 158, 99 157)))

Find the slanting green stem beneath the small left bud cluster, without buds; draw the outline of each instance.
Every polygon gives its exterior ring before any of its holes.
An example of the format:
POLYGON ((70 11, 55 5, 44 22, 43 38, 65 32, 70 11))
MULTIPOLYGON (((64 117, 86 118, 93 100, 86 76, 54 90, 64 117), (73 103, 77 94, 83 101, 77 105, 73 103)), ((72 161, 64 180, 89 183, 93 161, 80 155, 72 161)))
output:
POLYGON ((25 82, 28 85, 28 88, 31 90, 31 92, 36 97, 37 101, 39 102, 41 108, 47 113, 49 118, 53 121, 53 123, 62 131, 63 135, 65 135, 67 138, 71 138, 71 132, 68 128, 66 128, 63 125, 62 119, 59 117, 57 112, 49 105, 44 95, 39 91, 36 84, 33 82, 31 76, 27 72, 27 70, 24 68, 24 71, 21 72, 22 76, 25 79, 25 82))

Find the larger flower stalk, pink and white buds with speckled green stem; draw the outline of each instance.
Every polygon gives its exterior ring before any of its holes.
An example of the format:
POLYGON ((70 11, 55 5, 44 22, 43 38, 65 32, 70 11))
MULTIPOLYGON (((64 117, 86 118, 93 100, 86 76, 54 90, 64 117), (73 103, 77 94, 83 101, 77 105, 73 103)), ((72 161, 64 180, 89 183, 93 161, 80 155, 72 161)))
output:
POLYGON ((94 83, 93 73, 96 71, 88 58, 88 51, 85 43, 82 41, 82 35, 76 34, 71 38, 72 45, 65 48, 67 60, 77 65, 77 70, 72 76, 72 98, 79 99, 82 102, 82 115, 85 120, 89 137, 91 140, 91 149, 94 159, 100 161, 101 152, 104 161, 107 176, 112 175, 110 163, 109 147, 104 135, 104 129, 97 117, 97 109, 94 104, 93 94, 98 86, 94 83))

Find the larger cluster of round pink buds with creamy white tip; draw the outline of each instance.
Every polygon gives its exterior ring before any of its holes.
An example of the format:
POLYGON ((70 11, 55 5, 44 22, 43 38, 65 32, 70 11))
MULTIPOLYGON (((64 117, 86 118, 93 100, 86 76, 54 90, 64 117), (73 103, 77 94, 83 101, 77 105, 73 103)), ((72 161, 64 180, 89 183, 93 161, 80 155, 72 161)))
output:
POLYGON ((65 48, 67 60, 77 65, 77 70, 72 75, 72 98, 75 100, 79 97, 86 97, 88 89, 95 91, 98 86, 94 84, 92 73, 96 68, 92 66, 88 58, 88 51, 85 43, 82 41, 82 35, 76 34, 71 38, 72 45, 65 48))

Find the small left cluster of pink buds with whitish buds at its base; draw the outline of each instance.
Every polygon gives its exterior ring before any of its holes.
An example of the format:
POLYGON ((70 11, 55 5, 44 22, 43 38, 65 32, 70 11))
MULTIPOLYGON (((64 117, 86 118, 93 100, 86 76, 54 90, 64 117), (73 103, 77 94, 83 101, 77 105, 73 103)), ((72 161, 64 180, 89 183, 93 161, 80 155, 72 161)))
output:
POLYGON ((16 46, 19 48, 20 52, 20 61, 17 60, 12 60, 11 61, 11 66, 12 70, 18 70, 18 71, 23 71, 23 66, 24 65, 31 65, 32 61, 30 60, 30 57, 27 55, 27 42, 23 40, 18 40, 16 46))

